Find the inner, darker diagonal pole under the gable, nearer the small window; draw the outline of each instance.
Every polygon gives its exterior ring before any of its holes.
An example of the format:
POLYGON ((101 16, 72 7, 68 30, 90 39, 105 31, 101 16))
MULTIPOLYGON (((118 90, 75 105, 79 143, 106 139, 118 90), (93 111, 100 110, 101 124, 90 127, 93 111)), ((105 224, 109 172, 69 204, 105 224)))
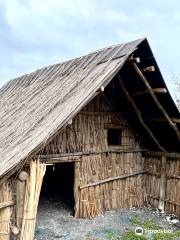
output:
POLYGON ((142 113, 139 110, 139 108, 137 107, 136 103, 134 102, 133 98, 130 96, 129 92, 127 91, 121 77, 119 75, 117 75, 118 78, 118 82, 120 84, 121 89, 123 90, 124 94, 126 95, 127 99, 129 100, 129 102, 131 103, 141 125, 143 126, 143 128, 148 132, 149 136, 152 138, 152 140, 154 141, 154 143, 158 146, 158 148, 163 151, 166 152, 166 150, 161 146, 161 144, 159 143, 159 141, 156 139, 156 137, 154 136, 154 134, 152 133, 152 131, 150 130, 150 128, 147 126, 147 124, 144 122, 143 118, 142 118, 142 113))

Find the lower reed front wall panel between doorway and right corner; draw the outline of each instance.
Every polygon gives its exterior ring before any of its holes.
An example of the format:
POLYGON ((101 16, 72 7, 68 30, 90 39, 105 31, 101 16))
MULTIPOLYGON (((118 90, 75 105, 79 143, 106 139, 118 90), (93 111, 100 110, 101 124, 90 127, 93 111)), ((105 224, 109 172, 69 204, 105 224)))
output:
POLYGON ((75 178, 79 178, 76 217, 91 218, 113 208, 144 205, 145 171, 141 153, 83 156, 75 164, 79 165, 75 171, 75 178))

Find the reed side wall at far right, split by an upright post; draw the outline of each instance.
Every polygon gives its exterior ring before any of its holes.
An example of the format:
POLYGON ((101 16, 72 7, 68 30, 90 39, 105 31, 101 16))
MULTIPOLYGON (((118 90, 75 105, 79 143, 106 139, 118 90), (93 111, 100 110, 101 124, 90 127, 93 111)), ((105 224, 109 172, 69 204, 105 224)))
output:
MULTIPOLYGON (((145 159, 145 167, 149 169, 146 191, 149 203, 154 207, 159 205, 161 161, 161 156, 148 156, 145 159)), ((167 158, 165 176, 165 211, 180 217, 180 158, 167 158)))

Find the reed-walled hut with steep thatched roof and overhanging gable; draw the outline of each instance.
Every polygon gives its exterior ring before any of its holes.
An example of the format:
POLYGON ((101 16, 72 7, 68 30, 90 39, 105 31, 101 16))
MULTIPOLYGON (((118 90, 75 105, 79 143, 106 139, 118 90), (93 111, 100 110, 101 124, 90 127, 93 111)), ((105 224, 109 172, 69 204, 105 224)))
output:
MULTIPOLYGON (((36 216, 48 162, 75 163, 77 217, 142 206, 144 199, 180 214, 179 151, 180 113, 146 39, 39 69, 9 81, 0 90, 0 191, 8 192, 0 197, 0 206, 2 202, 3 211, 16 209, 13 223, 20 239, 33 236, 35 221, 29 224, 23 213, 35 204, 34 215, 28 217, 36 216), (23 173, 26 183, 22 186, 23 173), (122 179, 125 185, 118 185, 122 179), (123 194, 126 181, 132 198, 123 194), (158 190, 153 188, 154 181, 158 190), (25 194, 28 186, 32 191, 38 188, 35 199, 25 194), (104 186, 109 190, 103 190, 104 186), (135 196, 132 188, 144 190, 135 196), (10 194, 13 191, 21 198, 20 206, 10 194), (100 195, 103 200, 97 202, 100 195)), ((0 217, 3 214, 7 212, 1 214, 0 207, 0 217)), ((5 231, 10 224, 3 225, 5 231)))

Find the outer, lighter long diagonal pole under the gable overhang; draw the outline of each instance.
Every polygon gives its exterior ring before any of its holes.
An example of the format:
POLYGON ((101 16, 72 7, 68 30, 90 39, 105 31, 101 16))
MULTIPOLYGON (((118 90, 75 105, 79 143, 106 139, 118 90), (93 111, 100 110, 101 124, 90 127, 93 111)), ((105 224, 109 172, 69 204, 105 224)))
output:
POLYGON ((132 66, 134 67, 135 71, 137 72, 137 74, 139 75, 139 77, 141 78, 141 80, 143 81, 143 83, 145 84, 145 86, 147 87, 147 89, 149 89, 149 92, 152 96, 152 99, 154 100, 154 102, 156 103, 157 107, 159 108, 159 110, 162 112, 162 114, 164 115, 165 119, 167 120, 168 124, 172 127, 172 129, 174 130, 179 142, 180 142, 180 132, 179 129, 177 128, 176 124, 173 123, 173 121, 171 120, 171 118, 169 117, 169 115, 167 114, 166 110, 164 109, 164 107, 162 106, 162 104, 159 102, 158 98, 156 97, 156 95, 154 94, 154 92, 152 91, 152 88, 150 86, 150 84, 148 83, 146 77, 143 75, 143 73, 141 72, 141 70, 138 68, 138 66, 136 65, 136 63, 132 63, 132 66))

